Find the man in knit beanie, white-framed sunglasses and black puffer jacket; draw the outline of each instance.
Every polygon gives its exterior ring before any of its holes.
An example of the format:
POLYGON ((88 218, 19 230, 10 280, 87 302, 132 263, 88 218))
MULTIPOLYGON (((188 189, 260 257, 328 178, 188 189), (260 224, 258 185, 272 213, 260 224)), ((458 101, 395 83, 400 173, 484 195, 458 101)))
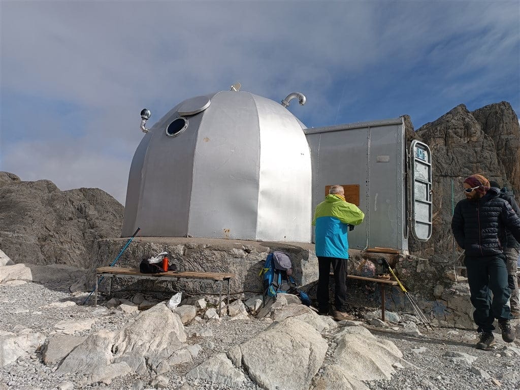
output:
POLYGON ((473 319, 482 332, 476 347, 488 349, 495 344, 492 333, 495 319, 502 331, 502 340, 506 343, 515 340, 510 308, 506 305, 510 291, 503 248, 505 229, 520 241, 520 218, 482 175, 467 177, 463 190, 466 199, 455 206, 451 229, 464 250, 471 303, 475 308, 473 319))

